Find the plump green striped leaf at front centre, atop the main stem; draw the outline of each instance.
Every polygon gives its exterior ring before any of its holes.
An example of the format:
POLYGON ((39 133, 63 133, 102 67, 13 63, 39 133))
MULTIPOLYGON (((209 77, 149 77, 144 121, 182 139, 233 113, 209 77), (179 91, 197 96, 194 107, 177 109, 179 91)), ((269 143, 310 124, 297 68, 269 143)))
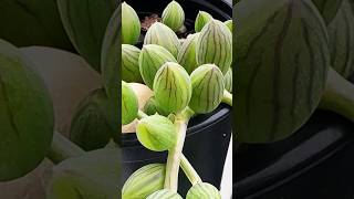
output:
POLYGON ((186 70, 178 63, 167 62, 154 80, 156 105, 165 113, 179 113, 189 103, 191 83, 186 70))

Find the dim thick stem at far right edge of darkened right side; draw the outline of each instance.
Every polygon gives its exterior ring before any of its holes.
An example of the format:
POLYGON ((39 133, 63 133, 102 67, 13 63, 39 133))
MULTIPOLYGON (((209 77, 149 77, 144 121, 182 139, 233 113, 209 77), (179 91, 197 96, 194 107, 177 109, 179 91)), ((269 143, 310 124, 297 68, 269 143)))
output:
POLYGON ((354 122, 354 85, 332 67, 329 71, 320 108, 336 112, 354 122))

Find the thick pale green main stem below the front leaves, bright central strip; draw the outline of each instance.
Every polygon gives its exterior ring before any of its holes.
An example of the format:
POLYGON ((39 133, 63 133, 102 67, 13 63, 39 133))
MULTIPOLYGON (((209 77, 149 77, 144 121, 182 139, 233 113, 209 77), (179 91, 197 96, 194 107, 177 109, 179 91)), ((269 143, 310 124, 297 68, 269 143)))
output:
POLYGON ((194 115, 194 112, 187 107, 181 113, 176 115, 175 126, 177 129, 176 145, 168 151, 166 164, 166 177, 165 189, 177 192, 178 189, 178 171, 181 157, 181 150, 184 148, 186 130, 189 118, 194 115))

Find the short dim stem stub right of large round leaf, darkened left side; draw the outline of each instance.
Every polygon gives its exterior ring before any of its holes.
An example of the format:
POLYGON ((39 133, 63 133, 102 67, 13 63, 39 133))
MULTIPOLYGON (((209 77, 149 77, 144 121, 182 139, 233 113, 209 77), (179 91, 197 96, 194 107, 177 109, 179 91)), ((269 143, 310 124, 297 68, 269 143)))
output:
POLYGON ((60 133, 54 132, 51 148, 46 155, 54 164, 83 155, 85 151, 60 133))

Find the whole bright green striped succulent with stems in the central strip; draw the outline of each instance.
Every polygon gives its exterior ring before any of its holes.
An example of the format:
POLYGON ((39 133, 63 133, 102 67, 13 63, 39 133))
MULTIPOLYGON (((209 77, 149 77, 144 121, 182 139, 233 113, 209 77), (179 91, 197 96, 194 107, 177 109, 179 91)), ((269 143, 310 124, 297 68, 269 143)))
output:
POLYGON ((178 171, 183 168, 192 184, 187 199, 220 198, 216 187, 202 182, 183 155, 189 119, 216 109, 221 102, 232 106, 232 35, 231 21, 221 22, 207 12, 196 18, 196 32, 185 40, 175 32, 183 30, 185 13, 171 1, 162 22, 146 32, 142 50, 134 46, 140 30, 135 10, 123 2, 122 38, 122 124, 138 119, 136 135, 146 148, 168 150, 166 165, 150 164, 136 170, 125 182, 123 199, 181 198, 178 171), (131 18, 127 18, 127 17, 131 18), (206 15, 206 17, 205 17, 206 15), (144 82, 154 95, 143 109, 126 82, 144 82))

